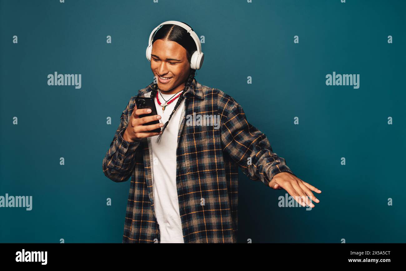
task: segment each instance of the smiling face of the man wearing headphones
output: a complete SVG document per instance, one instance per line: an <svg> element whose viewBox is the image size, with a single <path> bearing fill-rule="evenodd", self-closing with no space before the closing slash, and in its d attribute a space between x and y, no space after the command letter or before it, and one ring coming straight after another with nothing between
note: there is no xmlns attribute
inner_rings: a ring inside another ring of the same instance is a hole
<svg viewBox="0 0 406 271"><path fill-rule="evenodd" d="M190 74L186 49L175 41L157 39L152 46L151 71L162 93L175 94L183 90Z"/></svg>

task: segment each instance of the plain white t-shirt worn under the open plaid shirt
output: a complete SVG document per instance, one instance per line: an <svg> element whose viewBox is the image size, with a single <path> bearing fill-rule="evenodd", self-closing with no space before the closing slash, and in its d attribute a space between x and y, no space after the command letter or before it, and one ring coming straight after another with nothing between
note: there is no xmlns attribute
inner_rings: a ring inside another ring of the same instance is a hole
<svg viewBox="0 0 406 271"><path fill-rule="evenodd" d="M158 90L159 91L159 90ZM183 93L183 92L181 92ZM178 93L179 94L179 93ZM177 95L160 94L159 101L164 103ZM162 96L161 96L162 95ZM156 100L155 108L161 116L160 123L166 123L171 115L179 97L172 103L166 105L162 111ZM176 147L177 135L179 132L179 121L184 110L185 100L176 109L175 113L165 128L159 144L156 143L158 135L151 137L152 146L152 168L153 168L153 198L155 215L159 224L161 243L184 243L181 219L179 215L179 203L176 189Z"/></svg>

